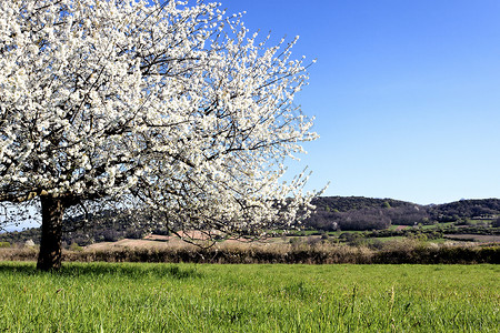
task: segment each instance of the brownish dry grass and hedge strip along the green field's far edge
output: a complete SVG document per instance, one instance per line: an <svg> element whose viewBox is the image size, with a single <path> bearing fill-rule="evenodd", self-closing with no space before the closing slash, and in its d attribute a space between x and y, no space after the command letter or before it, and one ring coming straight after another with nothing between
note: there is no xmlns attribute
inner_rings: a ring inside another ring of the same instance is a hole
<svg viewBox="0 0 500 333"><path fill-rule="evenodd" d="M33 261L37 248L0 249L2 261ZM500 263L499 245L452 245L403 239L382 248L351 246L329 241L294 243L222 242L203 249L182 242L122 240L63 251L63 261L80 262L194 262L194 263Z"/></svg>

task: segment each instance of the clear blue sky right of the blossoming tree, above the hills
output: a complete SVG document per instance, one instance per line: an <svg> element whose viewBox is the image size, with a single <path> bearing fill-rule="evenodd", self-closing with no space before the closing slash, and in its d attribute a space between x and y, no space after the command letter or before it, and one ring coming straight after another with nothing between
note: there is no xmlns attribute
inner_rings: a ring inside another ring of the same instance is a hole
<svg viewBox="0 0 500 333"><path fill-rule="evenodd" d="M326 195L500 198L500 1L226 0L250 31L318 59L297 103ZM299 169L292 168L291 171Z"/></svg>

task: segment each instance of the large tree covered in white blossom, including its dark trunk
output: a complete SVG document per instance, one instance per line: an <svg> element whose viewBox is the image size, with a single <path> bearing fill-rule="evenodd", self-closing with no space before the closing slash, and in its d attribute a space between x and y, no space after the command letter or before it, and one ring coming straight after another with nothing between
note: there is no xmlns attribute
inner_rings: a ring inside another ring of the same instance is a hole
<svg viewBox="0 0 500 333"><path fill-rule="evenodd" d="M256 41L217 3L0 2L0 201L39 202L38 268L63 216L113 202L173 231L249 234L308 206L284 160L316 139L293 107L294 43Z"/></svg>

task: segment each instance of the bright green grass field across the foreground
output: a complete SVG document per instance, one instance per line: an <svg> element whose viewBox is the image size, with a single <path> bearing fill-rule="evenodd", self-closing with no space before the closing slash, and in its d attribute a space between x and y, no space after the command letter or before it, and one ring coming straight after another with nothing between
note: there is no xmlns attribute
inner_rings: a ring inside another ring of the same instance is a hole
<svg viewBox="0 0 500 333"><path fill-rule="evenodd" d="M499 332L498 265L0 262L0 332Z"/></svg>

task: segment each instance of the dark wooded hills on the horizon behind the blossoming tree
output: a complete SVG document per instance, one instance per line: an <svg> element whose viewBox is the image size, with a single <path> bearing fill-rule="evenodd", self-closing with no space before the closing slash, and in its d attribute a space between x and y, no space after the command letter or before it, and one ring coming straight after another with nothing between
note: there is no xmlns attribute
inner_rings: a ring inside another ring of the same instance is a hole
<svg viewBox="0 0 500 333"><path fill-rule="evenodd" d="M301 228L334 230L386 230L390 225L433 224L437 222L460 222L468 219L500 218L500 199L460 200L444 204L420 205L394 199L374 199L364 196L319 196L312 202L317 210L303 221ZM132 224L129 215L106 211L92 218L83 229L78 226L82 216L67 220L63 242L88 245L93 242L117 241L119 239L140 239L146 235L142 226ZM143 224L153 214L134 213ZM498 222L496 222L498 224ZM167 234L164 228L152 230L156 234ZM0 242L22 243L27 240L40 242L38 228L6 232Z"/></svg>

